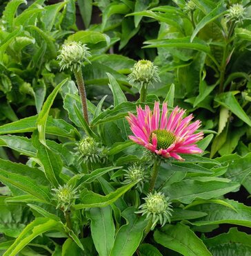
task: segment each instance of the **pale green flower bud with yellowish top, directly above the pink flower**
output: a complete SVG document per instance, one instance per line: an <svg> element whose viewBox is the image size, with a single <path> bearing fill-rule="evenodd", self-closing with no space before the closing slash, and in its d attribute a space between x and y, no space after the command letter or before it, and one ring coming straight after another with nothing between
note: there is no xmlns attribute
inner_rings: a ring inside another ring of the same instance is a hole
<svg viewBox="0 0 251 256"><path fill-rule="evenodd" d="M153 81L160 81L159 70L150 60L139 60L134 64L128 79L136 86L143 86L145 83L152 84Z"/></svg>

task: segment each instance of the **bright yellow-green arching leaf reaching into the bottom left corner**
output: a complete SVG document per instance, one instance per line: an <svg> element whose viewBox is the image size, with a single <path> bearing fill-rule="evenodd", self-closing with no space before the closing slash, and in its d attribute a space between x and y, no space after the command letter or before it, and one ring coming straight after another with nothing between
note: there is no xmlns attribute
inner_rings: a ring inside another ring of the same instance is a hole
<svg viewBox="0 0 251 256"><path fill-rule="evenodd" d="M44 232L59 229L62 229L59 221L54 221L53 219L49 218L37 218L23 229L23 232L21 232L16 241L14 241L14 244L12 244L12 246L6 250L6 253L4 253L3 256L15 256L35 237L43 234Z"/></svg>

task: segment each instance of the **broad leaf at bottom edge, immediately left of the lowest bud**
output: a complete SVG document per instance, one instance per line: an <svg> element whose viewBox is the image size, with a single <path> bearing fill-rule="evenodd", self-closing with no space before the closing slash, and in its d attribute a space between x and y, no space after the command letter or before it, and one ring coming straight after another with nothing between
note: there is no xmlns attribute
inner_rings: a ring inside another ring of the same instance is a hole
<svg viewBox="0 0 251 256"><path fill-rule="evenodd" d="M135 214L136 210L130 207L122 212L126 224L119 228L110 256L130 256L137 250L148 222L145 217Z"/></svg>

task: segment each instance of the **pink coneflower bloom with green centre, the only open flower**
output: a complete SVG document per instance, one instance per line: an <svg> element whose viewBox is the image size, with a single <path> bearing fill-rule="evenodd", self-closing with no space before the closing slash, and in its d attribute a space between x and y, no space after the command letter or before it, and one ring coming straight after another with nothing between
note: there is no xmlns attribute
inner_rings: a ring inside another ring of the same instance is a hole
<svg viewBox="0 0 251 256"><path fill-rule="evenodd" d="M163 103L161 114L159 102L155 102L153 112L150 111L149 106L145 106L145 110L139 106L137 116L129 113L127 117L134 133L134 136L129 138L155 154L184 161L179 154L201 153L202 150L194 143L203 138L203 132L194 134L200 127L201 121L190 122L193 116L183 118L184 113L185 110L175 107L168 116L166 103Z"/></svg>

